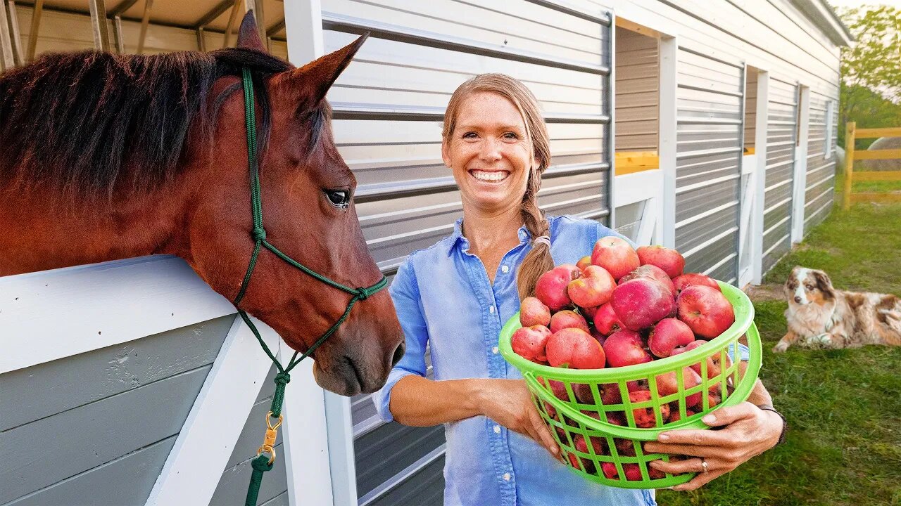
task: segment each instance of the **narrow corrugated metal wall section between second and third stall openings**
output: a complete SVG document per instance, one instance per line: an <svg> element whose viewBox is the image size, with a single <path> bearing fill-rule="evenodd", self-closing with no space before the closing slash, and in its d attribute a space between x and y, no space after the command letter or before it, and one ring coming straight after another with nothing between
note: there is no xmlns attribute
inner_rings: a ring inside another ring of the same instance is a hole
<svg viewBox="0 0 901 506"><path fill-rule="evenodd" d="M763 204L763 272L791 248L798 86L769 78L766 198Z"/></svg>

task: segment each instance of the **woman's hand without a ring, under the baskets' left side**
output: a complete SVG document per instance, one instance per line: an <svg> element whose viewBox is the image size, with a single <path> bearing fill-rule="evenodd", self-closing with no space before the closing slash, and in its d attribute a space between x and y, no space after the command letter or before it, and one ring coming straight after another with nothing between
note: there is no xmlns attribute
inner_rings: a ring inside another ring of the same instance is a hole
<svg viewBox="0 0 901 506"><path fill-rule="evenodd" d="M534 439L548 448L551 455L560 458L560 447L532 404L532 394L525 381L484 379L478 382L478 411L507 429Z"/></svg>

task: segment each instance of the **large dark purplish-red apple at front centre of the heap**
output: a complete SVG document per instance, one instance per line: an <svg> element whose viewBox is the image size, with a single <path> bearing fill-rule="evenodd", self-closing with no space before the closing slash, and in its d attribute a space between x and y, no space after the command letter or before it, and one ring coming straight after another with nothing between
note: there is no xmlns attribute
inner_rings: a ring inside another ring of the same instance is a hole
<svg viewBox="0 0 901 506"><path fill-rule="evenodd" d="M666 286L643 277L617 286L610 298L616 316L629 330L651 327L669 316L675 304Z"/></svg>

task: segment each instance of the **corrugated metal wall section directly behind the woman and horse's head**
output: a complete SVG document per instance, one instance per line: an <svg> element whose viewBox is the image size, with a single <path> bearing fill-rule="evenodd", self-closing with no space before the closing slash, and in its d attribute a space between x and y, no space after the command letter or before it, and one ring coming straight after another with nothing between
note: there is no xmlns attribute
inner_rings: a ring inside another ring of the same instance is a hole
<svg viewBox="0 0 901 506"><path fill-rule="evenodd" d="M542 104L554 154L542 208L607 221L607 14L542 0L503 10L451 0L415 9L403 0L323 0L322 16L326 51L372 33L329 100L335 141L359 182L369 250L388 276L410 252L449 235L462 213L441 162L441 118L453 90L476 74L517 77ZM359 503L432 504L418 491L443 490L443 427L383 425L368 396L353 400L352 417Z"/></svg>

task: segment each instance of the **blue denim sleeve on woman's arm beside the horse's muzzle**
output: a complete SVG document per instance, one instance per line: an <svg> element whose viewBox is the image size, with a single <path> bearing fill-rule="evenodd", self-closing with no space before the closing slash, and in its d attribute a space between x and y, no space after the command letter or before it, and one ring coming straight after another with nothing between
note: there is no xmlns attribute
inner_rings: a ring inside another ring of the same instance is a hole
<svg viewBox="0 0 901 506"><path fill-rule="evenodd" d="M388 375L387 383L378 392L372 394L372 401L376 405L378 416L385 421L394 420L389 406L391 404L391 390L404 376L420 375L425 377L425 347L429 340L428 329L423 318L422 305L420 304L419 288L416 284L416 275L407 258L397 270L397 275L388 293L395 304L397 320L400 321L401 330L404 331L406 350L404 357L397 362Z"/></svg>

